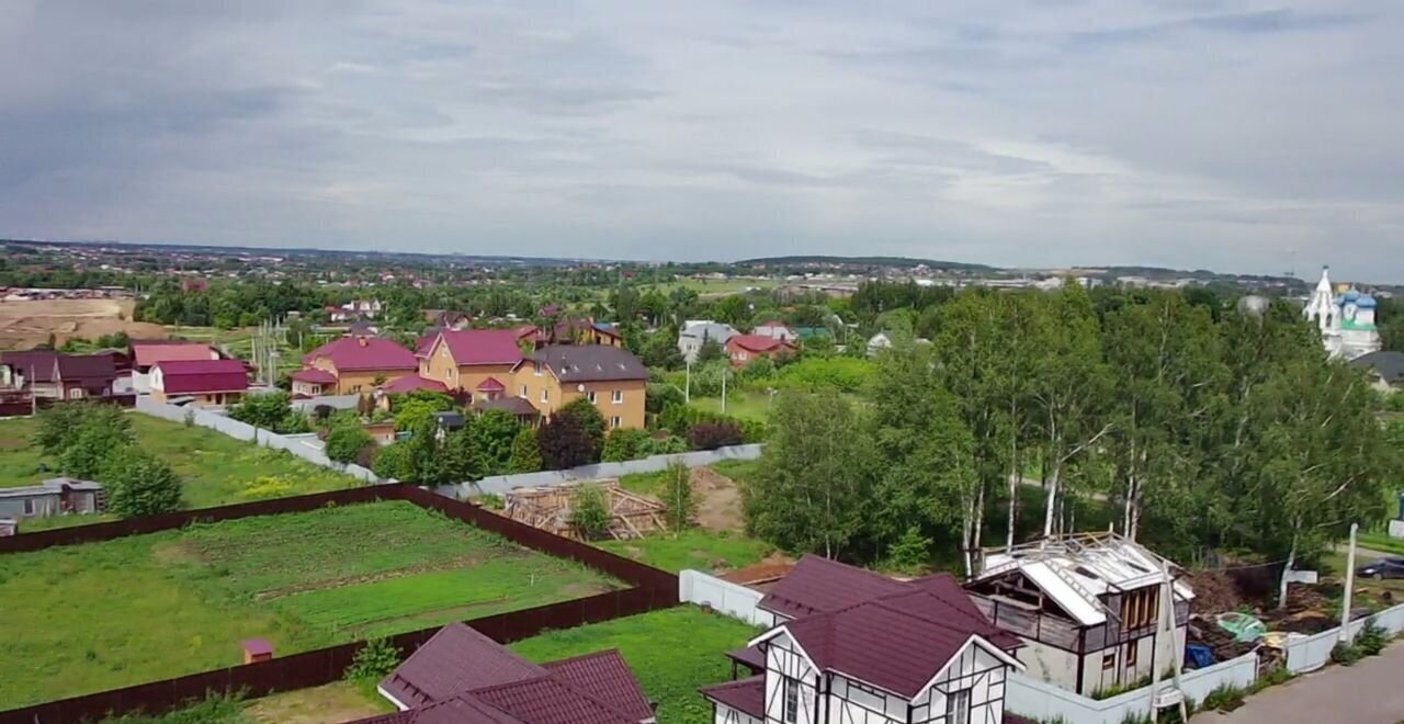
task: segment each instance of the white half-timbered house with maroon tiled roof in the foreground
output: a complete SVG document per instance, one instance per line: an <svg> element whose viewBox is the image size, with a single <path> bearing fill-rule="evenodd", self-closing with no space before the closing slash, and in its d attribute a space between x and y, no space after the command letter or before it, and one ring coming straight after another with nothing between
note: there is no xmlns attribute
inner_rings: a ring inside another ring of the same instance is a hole
<svg viewBox="0 0 1404 724"><path fill-rule="evenodd" d="M1018 640L949 575L896 581L806 556L758 603L775 626L703 688L717 724L1001 724Z"/></svg>

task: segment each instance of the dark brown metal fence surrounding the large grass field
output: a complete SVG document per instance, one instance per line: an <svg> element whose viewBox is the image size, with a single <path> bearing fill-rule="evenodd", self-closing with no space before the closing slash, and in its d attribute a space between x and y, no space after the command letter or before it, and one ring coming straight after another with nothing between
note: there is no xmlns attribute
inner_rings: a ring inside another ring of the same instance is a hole
<svg viewBox="0 0 1404 724"><path fill-rule="evenodd" d="M498 643L505 644L536 636L546 630L608 622L622 616L671 608L678 603L678 582L673 574L577 540L553 536L545 530L510 521L476 505L444 498L413 485L373 485L299 495L295 498L226 505L222 508L183 511L112 523L24 533L0 539L0 553L31 551L53 546L111 540L157 530L171 530L191 522L232 521L253 515L312 511L327 504L354 505L382 500L404 500L423 508L439 511L456 521L498 533L521 546L583 563L633 585L633 588L623 591L609 591L588 598L563 601L560 603L498 613L466 622ZM390 641L403 655L409 655L437 631L438 627L409 631L392 637ZM257 697L275 692L322 686L341 679L343 672L351 664L359 647L359 643L341 644L258 664L206 671L190 676L0 711L0 724L97 721L108 714L170 711L192 700L204 699L209 692L243 692L244 696Z"/></svg>

